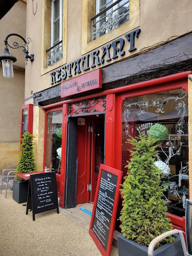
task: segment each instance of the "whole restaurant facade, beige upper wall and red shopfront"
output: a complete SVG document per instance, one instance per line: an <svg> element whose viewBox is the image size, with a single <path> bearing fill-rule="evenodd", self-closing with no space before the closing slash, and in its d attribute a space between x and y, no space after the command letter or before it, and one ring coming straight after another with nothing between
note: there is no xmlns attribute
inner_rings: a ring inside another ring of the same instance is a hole
<svg viewBox="0 0 192 256"><path fill-rule="evenodd" d="M168 216L185 230L192 175L190 1L77 2L78 9L45 0L36 13L27 2L34 61L26 66L21 135L33 131L37 168L56 172L59 205L71 208L94 202L100 163L127 174L129 136L162 124L169 133L158 145L171 172L163 181L171 182L164 185ZM119 196L117 218L120 209Z"/></svg>

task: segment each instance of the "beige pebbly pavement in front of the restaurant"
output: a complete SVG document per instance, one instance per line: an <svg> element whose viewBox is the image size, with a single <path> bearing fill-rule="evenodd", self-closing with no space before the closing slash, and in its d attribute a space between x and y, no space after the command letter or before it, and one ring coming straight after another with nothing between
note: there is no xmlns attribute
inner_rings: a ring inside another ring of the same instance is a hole
<svg viewBox="0 0 192 256"><path fill-rule="evenodd" d="M26 215L26 206L0 194L0 256L100 256L88 230L56 210ZM118 256L112 246L111 256Z"/></svg>

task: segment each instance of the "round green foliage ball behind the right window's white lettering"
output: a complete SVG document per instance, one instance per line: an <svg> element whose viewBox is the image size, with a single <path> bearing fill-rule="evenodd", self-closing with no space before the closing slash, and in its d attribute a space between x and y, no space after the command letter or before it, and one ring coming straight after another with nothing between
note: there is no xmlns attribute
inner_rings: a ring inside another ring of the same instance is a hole
<svg viewBox="0 0 192 256"><path fill-rule="evenodd" d="M158 143L163 142L169 137L168 128L163 124L154 124L149 129L149 137L150 139L157 139Z"/></svg>

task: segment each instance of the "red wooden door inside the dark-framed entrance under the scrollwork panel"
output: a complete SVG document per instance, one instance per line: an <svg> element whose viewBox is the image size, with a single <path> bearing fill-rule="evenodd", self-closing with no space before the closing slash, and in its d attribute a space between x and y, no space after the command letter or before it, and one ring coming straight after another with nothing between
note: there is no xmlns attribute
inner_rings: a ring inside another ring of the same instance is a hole
<svg viewBox="0 0 192 256"><path fill-rule="evenodd" d="M77 131L76 204L80 204L95 199L99 167L104 163L104 118L78 119Z"/></svg>

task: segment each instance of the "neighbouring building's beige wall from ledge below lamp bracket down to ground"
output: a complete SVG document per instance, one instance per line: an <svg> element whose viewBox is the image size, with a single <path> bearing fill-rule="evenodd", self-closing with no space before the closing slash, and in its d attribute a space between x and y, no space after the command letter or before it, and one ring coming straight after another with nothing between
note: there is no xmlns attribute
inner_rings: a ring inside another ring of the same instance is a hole
<svg viewBox="0 0 192 256"><path fill-rule="evenodd" d="M15 168L19 157L24 72L13 73L13 78L3 77L0 66L0 170Z"/></svg>

